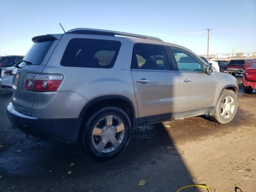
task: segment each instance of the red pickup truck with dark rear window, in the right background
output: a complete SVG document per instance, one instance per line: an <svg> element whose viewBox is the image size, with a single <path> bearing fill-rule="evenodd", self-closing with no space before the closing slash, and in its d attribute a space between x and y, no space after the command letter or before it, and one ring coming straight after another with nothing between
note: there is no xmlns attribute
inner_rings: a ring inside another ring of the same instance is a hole
<svg viewBox="0 0 256 192"><path fill-rule="evenodd" d="M244 70L254 65L253 59L232 59L228 63L228 73L231 75L244 74Z"/></svg>

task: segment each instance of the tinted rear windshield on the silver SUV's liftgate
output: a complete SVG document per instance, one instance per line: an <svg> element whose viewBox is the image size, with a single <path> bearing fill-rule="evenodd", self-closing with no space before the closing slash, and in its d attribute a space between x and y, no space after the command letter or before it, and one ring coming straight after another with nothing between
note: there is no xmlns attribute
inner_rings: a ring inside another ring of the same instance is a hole
<svg viewBox="0 0 256 192"><path fill-rule="evenodd" d="M40 65L53 42L48 40L34 43L23 60L32 62L33 65ZM26 63L22 62L21 64Z"/></svg>

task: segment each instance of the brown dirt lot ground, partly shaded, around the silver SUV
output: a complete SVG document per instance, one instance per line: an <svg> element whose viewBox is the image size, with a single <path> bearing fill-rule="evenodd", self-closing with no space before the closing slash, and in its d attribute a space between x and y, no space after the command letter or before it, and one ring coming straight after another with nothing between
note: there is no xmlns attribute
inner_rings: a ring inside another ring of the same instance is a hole
<svg viewBox="0 0 256 192"><path fill-rule="evenodd" d="M126 150L107 162L87 158L78 144L29 140L12 130L11 95L0 89L0 191L176 192L193 182L215 192L256 191L255 91L240 90L228 124L200 116L139 127ZM207 190L181 192L188 191Z"/></svg>

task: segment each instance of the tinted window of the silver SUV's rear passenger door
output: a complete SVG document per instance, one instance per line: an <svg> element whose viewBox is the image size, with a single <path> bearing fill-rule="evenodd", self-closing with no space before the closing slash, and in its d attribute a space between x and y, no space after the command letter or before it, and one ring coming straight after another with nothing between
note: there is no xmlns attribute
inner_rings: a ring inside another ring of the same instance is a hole
<svg viewBox="0 0 256 192"><path fill-rule="evenodd" d="M132 69L171 70L165 46L153 44L134 45Z"/></svg>

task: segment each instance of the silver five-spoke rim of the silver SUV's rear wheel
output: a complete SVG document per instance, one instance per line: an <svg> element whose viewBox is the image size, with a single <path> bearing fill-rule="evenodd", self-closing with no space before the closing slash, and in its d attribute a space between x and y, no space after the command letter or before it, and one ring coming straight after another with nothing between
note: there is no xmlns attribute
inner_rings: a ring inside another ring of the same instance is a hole
<svg viewBox="0 0 256 192"><path fill-rule="evenodd" d="M124 123L114 115L100 119L92 130L92 143L95 149L102 153L116 150L123 139Z"/></svg>

